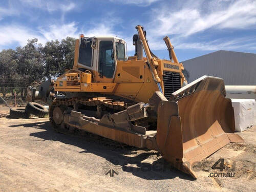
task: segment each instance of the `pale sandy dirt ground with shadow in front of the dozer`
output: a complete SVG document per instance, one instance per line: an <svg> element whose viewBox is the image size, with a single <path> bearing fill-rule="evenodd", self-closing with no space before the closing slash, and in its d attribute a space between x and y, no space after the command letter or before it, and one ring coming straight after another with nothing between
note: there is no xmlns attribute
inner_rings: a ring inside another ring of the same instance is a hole
<svg viewBox="0 0 256 192"><path fill-rule="evenodd" d="M198 165L198 179L168 165L159 153L91 135L55 133L48 118L0 118L0 192L4 191L254 191L256 127ZM210 177L224 158L223 173ZM113 168L113 169L111 169ZM110 177L108 170L118 174Z"/></svg>

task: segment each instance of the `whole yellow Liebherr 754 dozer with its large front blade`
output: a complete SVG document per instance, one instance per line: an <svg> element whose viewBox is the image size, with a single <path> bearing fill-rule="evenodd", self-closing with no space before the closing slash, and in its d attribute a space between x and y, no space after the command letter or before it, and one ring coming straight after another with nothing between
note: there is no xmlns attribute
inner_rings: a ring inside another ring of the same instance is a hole
<svg viewBox="0 0 256 192"><path fill-rule="evenodd" d="M187 84L168 37L170 60L150 50L142 26L133 36L135 55L117 37L76 40L71 70L28 88L28 99L50 105L55 130L83 130L136 147L156 150L173 166L196 178L191 165L230 142L234 113L223 79L210 76ZM146 57L143 57L145 54Z"/></svg>

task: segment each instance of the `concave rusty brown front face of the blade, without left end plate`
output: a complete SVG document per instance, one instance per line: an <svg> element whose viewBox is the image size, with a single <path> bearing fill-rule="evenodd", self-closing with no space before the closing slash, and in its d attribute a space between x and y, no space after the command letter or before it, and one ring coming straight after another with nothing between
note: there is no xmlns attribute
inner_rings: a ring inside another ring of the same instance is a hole
<svg viewBox="0 0 256 192"><path fill-rule="evenodd" d="M178 101L184 160L200 161L229 143L234 132L231 101L219 91L200 91Z"/></svg>

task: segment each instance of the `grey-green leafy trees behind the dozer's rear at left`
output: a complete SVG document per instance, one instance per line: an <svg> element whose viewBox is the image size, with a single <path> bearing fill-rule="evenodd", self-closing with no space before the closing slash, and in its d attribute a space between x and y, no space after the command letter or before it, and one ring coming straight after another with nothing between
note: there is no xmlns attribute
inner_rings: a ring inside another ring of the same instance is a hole
<svg viewBox="0 0 256 192"><path fill-rule="evenodd" d="M43 47L29 39L24 47L0 52L0 93L13 91L25 100L27 87L49 77L58 77L74 63L75 39L48 41Z"/></svg>

